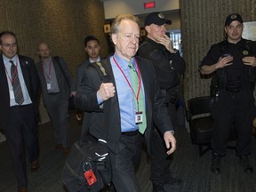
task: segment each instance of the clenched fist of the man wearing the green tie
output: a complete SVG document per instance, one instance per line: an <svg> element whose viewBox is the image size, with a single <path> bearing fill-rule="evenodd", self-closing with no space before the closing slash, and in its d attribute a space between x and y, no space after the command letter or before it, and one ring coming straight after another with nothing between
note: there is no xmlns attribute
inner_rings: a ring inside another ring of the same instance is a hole
<svg viewBox="0 0 256 192"><path fill-rule="evenodd" d="M101 100L108 100L111 97L114 97L116 92L115 86L112 83L102 83L100 84L100 89L97 92L97 95Z"/></svg>

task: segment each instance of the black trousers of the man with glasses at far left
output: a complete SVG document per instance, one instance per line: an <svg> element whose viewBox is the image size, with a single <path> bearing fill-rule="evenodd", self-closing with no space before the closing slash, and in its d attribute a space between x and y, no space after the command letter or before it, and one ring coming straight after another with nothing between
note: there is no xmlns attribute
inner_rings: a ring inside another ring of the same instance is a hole
<svg viewBox="0 0 256 192"><path fill-rule="evenodd" d="M12 107L8 128L4 130L18 187L28 187L26 149L29 163L39 156L38 116L35 111L32 104Z"/></svg>

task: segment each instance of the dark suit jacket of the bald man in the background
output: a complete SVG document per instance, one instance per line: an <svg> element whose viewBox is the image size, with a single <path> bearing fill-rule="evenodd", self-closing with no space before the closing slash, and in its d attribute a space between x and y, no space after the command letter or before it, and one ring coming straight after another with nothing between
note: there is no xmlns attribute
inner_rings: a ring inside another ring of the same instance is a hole
<svg viewBox="0 0 256 192"><path fill-rule="evenodd" d="M55 75L60 88L60 97L63 100L68 100L70 92L76 91L72 73L68 69L67 63L60 57L52 57L52 65L55 70ZM44 78L43 63L41 60L36 63L36 69L41 82L44 105L47 105L49 94L47 91L47 84Z"/></svg>

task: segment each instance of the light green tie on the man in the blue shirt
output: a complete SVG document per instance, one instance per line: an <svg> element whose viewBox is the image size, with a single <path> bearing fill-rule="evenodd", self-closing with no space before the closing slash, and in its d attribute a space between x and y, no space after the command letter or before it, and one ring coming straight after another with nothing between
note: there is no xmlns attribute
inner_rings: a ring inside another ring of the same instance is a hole
<svg viewBox="0 0 256 192"><path fill-rule="evenodd" d="M132 80L132 89L134 93L136 110L138 109L138 104L139 104L139 110L142 111L142 124L139 124L139 132L143 134L147 127L146 110L144 105L144 92L142 90L142 86L140 86L140 95L139 95L139 103L138 103L136 100L136 94L139 89L138 73L136 72L136 69L133 67L132 62L129 62L128 67L130 68L130 76Z"/></svg>

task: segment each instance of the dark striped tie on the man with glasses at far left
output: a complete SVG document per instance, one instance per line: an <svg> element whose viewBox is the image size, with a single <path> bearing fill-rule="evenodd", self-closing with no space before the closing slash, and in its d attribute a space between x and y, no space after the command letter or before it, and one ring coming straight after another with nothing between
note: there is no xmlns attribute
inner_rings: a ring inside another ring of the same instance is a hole
<svg viewBox="0 0 256 192"><path fill-rule="evenodd" d="M18 76L18 68L14 65L13 60L9 60L12 63L11 76L12 76L12 89L14 93L15 102L21 105L24 102L23 93L20 86L20 80Z"/></svg>

